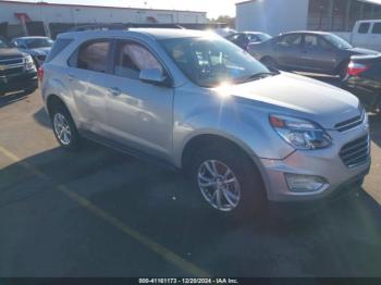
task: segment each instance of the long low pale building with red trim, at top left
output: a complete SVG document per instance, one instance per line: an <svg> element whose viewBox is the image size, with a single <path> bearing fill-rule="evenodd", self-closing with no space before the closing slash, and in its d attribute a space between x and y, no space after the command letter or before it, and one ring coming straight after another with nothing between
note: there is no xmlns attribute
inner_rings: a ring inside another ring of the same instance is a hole
<svg viewBox="0 0 381 285"><path fill-rule="evenodd" d="M8 34L29 34L28 26L44 27L50 33L52 24L206 24L207 13L198 11L157 10L82 4L53 4L0 0L0 25ZM39 23L39 24L37 24ZM34 33L32 33L34 34ZM40 34L40 30L39 30Z"/></svg>

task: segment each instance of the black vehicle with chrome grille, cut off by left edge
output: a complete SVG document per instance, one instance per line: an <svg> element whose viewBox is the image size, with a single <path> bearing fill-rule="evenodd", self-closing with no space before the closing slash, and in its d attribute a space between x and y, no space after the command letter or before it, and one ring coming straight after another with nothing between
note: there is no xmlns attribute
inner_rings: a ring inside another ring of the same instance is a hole
<svg viewBox="0 0 381 285"><path fill-rule="evenodd" d="M33 92L36 88L37 71L32 57L11 48L0 37L0 95L16 90Z"/></svg>

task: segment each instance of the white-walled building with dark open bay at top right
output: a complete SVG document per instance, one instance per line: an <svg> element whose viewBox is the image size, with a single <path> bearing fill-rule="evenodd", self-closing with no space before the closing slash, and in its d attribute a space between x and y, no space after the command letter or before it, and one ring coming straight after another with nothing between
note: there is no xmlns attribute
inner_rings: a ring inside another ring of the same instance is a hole
<svg viewBox="0 0 381 285"><path fill-rule="evenodd" d="M381 4L367 0L250 0L236 4L236 29L270 35L290 30L352 30L356 21L381 18Z"/></svg>

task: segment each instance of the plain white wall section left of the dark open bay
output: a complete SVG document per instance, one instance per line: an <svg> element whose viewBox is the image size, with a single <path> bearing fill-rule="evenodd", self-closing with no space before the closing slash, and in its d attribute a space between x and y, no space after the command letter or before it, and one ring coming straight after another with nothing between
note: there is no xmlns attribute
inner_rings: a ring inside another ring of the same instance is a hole
<svg viewBox="0 0 381 285"><path fill-rule="evenodd" d="M236 5L235 27L272 36L307 28L308 0L254 0Z"/></svg>

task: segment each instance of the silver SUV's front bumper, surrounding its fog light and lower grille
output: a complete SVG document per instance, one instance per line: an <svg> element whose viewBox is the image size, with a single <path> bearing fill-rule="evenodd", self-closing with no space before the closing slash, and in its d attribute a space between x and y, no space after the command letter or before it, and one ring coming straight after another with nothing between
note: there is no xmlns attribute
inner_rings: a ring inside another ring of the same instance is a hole
<svg viewBox="0 0 381 285"><path fill-rule="evenodd" d="M340 189L359 187L369 173L370 154L360 165L348 168L340 158L341 149L348 142L368 135L368 126L360 125L345 133L330 132L334 144L321 150L297 150L284 160L261 159L262 177L270 201L305 201L330 196ZM327 184L317 190L295 191L288 186L286 174L322 178Z"/></svg>

